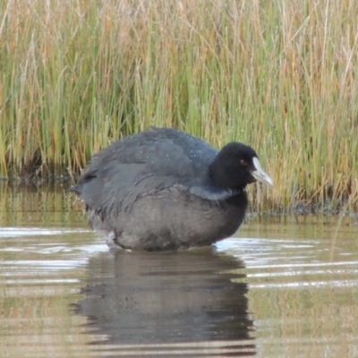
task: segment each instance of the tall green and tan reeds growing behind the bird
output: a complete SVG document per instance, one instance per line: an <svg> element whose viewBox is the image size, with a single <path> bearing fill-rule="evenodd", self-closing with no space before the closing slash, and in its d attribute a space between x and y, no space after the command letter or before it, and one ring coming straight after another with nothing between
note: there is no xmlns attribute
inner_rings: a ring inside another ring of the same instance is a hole
<svg viewBox="0 0 358 358"><path fill-rule="evenodd" d="M261 212L357 212L355 0L8 0L0 177L72 180L154 126L256 149Z"/></svg>

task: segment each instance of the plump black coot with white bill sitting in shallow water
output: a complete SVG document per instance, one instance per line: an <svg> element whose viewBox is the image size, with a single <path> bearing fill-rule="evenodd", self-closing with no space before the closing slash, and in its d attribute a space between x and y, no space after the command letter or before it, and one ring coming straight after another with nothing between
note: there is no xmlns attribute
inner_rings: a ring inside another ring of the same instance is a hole
<svg viewBox="0 0 358 358"><path fill-rule="evenodd" d="M273 184L251 147L231 142L217 152L185 132L153 128L100 150L70 190L109 247L176 250L234 234L245 187L256 180Z"/></svg>

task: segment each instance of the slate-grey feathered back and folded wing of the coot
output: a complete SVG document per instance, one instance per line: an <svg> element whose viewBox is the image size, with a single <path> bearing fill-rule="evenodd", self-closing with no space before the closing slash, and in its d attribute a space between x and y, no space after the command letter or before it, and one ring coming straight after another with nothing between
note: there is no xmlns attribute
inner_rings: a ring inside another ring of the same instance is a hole
<svg viewBox="0 0 358 358"><path fill-rule="evenodd" d="M100 150L72 192L104 214L131 205L139 194L172 185L200 192L209 186L208 168L216 155L216 149L190 134L154 128Z"/></svg>

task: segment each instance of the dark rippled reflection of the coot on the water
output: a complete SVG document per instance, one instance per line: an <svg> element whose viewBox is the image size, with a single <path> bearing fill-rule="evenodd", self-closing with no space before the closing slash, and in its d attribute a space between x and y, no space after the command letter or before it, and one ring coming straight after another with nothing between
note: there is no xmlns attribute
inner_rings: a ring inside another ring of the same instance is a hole
<svg viewBox="0 0 358 358"><path fill-rule="evenodd" d="M215 248L102 252L89 261L85 297L74 311L107 344L251 339L241 268Z"/></svg>

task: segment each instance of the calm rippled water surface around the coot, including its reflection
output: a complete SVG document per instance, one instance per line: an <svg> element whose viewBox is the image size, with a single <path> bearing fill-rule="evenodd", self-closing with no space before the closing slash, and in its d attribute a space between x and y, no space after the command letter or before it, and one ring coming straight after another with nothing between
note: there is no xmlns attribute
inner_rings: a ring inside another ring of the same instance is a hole
<svg viewBox="0 0 358 358"><path fill-rule="evenodd" d="M0 194L1 357L358 356L357 218L113 254L64 188Z"/></svg>

